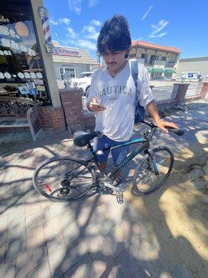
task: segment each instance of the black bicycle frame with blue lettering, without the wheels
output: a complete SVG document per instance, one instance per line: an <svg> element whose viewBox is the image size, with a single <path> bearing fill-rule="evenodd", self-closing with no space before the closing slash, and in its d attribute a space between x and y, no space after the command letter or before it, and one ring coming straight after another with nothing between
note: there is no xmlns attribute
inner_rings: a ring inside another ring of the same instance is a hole
<svg viewBox="0 0 208 278"><path fill-rule="evenodd" d="M141 145L139 147L137 147L137 149L135 149L132 152L130 152L130 154L128 154L128 156L123 161L121 161L121 163L119 163L119 165L117 165L114 168L114 170L112 170L112 172L110 172L109 174L105 175L105 173L102 170L100 170L102 177L109 177L109 178L111 178L112 176L114 176L114 174L116 174L116 172L119 172L123 167L125 167L125 165L130 163L130 161L132 161L132 159L135 158L135 156L137 156L139 153L141 153L144 149L148 149L150 147L150 142L149 142L148 138L147 139L146 138L144 138L144 139L137 138L137 139L133 139L133 140L129 140L127 142L124 142L121 145L117 145L117 146L114 146L114 147L108 147L108 148L105 148L105 149L101 149L102 152L105 152L107 150L118 149L119 147L133 145L133 144L137 144L137 143L139 143ZM90 153L93 156L91 159L89 159L89 161L86 161L86 163L89 163L87 165L87 167L89 167L89 165L92 165L92 163L96 163L96 165L99 168L99 166L101 164L98 162L96 151L94 151L94 149L93 149L93 147L92 147L92 145L90 143L87 145L87 148L90 150Z"/></svg>

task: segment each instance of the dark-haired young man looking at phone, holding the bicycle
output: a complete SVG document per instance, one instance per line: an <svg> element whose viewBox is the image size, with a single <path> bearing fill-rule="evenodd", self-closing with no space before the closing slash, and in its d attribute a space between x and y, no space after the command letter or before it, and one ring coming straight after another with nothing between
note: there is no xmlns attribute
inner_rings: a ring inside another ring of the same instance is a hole
<svg viewBox="0 0 208 278"><path fill-rule="evenodd" d="M87 107L96 117L96 131L103 136L94 139L94 149L104 149L130 140L135 121L135 82L128 63L131 38L128 22L122 15L114 15L107 20L98 36L98 54L103 56L105 68L94 72ZM148 73L143 65L139 65L138 74L139 104L148 110L155 124L168 132L166 126L178 128L173 122L163 122L158 115L153 94L148 83ZM112 158L121 162L128 152L128 147L112 150ZM109 152L98 155L101 170L105 172ZM117 175L117 179L119 179ZM121 181L117 181L121 183Z"/></svg>

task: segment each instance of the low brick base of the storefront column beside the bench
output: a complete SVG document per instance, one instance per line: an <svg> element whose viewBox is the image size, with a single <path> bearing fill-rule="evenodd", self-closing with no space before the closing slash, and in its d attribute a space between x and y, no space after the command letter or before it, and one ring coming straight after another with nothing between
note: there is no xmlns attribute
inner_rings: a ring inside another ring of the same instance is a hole
<svg viewBox="0 0 208 278"><path fill-rule="evenodd" d="M62 107L54 108L52 106L40 106L38 112L43 129L66 129Z"/></svg>

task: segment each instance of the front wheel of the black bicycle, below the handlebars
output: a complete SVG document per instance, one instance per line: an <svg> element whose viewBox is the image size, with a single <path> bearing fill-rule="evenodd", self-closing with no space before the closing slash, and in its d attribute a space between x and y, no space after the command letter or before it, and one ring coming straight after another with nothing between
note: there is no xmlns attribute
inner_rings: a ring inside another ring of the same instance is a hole
<svg viewBox="0 0 208 278"><path fill-rule="evenodd" d="M153 193L171 174L174 163L172 152L167 147L157 147L153 149L153 153L153 159L146 154L135 169L132 186L136 193Z"/></svg>

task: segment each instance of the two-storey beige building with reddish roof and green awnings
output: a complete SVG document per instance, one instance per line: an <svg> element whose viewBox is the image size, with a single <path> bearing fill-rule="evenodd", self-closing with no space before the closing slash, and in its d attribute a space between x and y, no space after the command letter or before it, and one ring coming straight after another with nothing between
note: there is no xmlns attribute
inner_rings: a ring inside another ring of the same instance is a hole
<svg viewBox="0 0 208 278"><path fill-rule="evenodd" d="M175 79L180 49L144 41L132 42L130 60L145 65L149 79ZM163 78L164 76L164 78Z"/></svg>

